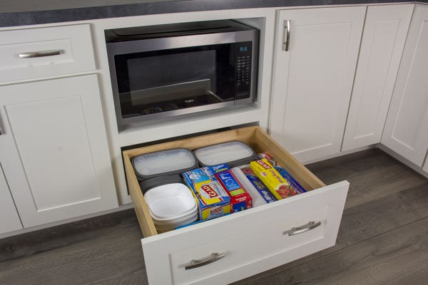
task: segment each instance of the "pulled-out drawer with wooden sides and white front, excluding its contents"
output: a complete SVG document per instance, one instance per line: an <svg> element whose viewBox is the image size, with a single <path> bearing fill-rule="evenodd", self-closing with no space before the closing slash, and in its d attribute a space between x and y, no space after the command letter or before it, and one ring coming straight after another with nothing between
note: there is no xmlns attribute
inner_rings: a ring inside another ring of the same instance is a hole
<svg viewBox="0 0 428 285"><path fill-rule="evenodd" d="M163 234L156 232L131 158L173 147L240 140L269 152L308 192ZM257 126L123 152L129 192L144 238L150 284L228 284L336 242L349 183L325 185Z"/></svg>

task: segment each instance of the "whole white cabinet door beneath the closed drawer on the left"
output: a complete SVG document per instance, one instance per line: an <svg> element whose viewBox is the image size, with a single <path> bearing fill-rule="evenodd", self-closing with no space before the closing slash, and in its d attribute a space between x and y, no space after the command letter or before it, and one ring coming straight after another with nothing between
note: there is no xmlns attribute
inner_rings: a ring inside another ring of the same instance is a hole
<svg viewBox="0 0 428 285"><path fill-rule="evenodd" d="M9 138L0 154L24 227L118 206L96 75L0 93Z"/></svg>

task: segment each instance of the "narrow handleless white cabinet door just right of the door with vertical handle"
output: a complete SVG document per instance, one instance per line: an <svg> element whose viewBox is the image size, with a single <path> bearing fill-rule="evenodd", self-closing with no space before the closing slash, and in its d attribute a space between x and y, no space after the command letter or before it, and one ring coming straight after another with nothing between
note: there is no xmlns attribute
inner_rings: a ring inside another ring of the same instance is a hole
<svg viewBox="0 0 428 285"><path fill-rule="evenodd" d="M380 142L413 8L367 8L342 150Z"/></svg>

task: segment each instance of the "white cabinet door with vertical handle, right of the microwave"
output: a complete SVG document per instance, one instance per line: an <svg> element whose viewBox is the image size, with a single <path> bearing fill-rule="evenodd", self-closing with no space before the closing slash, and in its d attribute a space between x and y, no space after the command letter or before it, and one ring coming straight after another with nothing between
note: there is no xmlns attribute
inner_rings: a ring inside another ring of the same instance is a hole
<svg viewBox="0 0 428 285"><path fill-rule="evenodd" d="M340 152L365 11L358 6L279 13L270 134L300 161Z"/></svg>

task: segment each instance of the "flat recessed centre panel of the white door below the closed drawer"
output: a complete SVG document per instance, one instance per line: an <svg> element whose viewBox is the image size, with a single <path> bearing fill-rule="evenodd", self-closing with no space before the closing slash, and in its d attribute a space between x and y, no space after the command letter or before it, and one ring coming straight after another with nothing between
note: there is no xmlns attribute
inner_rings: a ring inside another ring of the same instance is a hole
<svg viewBox="0 0 428 285"><path fill-rule="evenodd" d="M6 113L37 211L101 199L78 95L6 105Z"/></svg>

